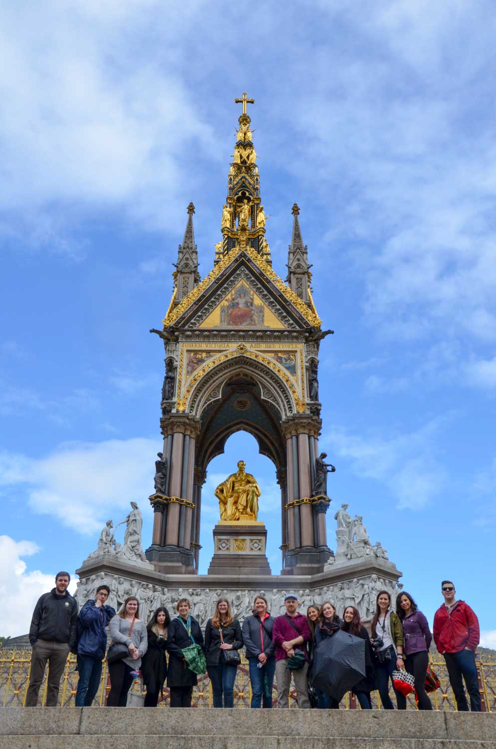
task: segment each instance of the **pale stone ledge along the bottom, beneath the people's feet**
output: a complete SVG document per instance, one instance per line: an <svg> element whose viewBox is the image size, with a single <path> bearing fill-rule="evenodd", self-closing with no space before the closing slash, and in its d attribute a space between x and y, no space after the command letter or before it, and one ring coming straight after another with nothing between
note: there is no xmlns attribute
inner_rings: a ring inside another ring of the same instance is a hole
<svg viewBox="0 0 496 749"><path fill-rule="evenodd" d="M0 709L0 749L496 749L496 713Z"/></svg>

